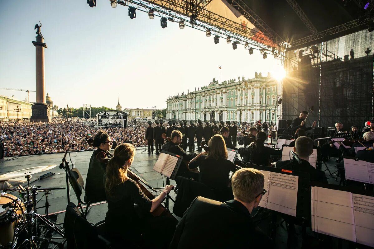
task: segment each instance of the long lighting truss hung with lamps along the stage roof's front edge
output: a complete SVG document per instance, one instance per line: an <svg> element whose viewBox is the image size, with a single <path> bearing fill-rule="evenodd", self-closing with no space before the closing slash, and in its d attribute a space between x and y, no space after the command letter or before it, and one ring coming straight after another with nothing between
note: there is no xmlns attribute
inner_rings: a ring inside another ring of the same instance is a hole
<svg viewBox="0 0 374 249"><path fill-rule="evenodd" d="M229 19L226 19L222 16L219 16L215 13L209 12L208 10L201 8L200 6L198 9L198 15L192 14L190 10L185 10L186 6L179 5L178 3L172 2L172 0L163 0L165 1L165 6L160 6L158 1L156 0L117 0L117 4L122 6L128 6L128 7L134 7L134 9L138 11L142 11L145 13L148 13L148 17L150 19L154 19L155 16L159 16L161 18L160 25L162 28L167 27L167 20L174 21L177 20L177 22L181 23L183 21L184 27L188 26L194 29L201 30L205 32L207 37L210 37L212 33L215 35L214 37L214 43L219 43L220 37L227 37L226 42L231 43L231 40L235 40L236 46L238 44L244 45L245 49L249 50L249 54L252 55L254 52L254 49L256 50L266 50L270 51L270 46L267 46L261 42L258 41L264 41L264 38L262 35L258 34L258 32L252 32L252 29L246 28L245 30L242 29L242 24L233 22ZM175 12L171 9L166 9L170 4L171 6L178 5L175 7L178 7L180 10L179 12ZM201 18L201 15L204 15L205 19L209 21L209 23L202 22L198 18ZM186 18L193 19L193 24L190 22L186 22ZM222 29L220 27L214 26L210 23L217 23L217 25L225 24L226 29ZM180 26L181 28L181 26ZM249 35L250 34L250 35ZM254 35L255 34L255 35ZM257 35L258 34L258 35ZM253 37L254 39L258 40L252 40L248 37ZM289 44L287 43L279 43L278 44L281 50L285 50L289 47ZM282 57L282 60L285 56L285 53L280 53L279 49L276 49L278 51L278 56Z"/></svg>

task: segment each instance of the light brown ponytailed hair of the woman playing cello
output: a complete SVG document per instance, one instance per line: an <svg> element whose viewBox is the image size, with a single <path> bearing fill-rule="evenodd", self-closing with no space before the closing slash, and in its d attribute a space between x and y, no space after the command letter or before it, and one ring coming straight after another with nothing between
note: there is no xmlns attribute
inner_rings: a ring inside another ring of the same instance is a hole
<svg viewBox="0 0 374 249"><path fill-rule="evenodd" d="M116 147L114 156L107 165L107 175L105 180L105 191L114 197L116 186L126 181L126 161L135 155L135 147L129 143L123 143Z"/></svg>

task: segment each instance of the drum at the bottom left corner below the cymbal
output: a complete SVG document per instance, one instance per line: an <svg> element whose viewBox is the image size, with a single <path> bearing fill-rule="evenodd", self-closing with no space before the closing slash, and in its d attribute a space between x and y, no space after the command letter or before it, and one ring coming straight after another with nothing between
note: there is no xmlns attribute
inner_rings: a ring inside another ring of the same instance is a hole
<svg viewBox="0 0 374 249"><path fill-rule="evenodd" d="M17 223L24 218L25 205L21 200L15 208L2 208L4 204L16 199L17 197L12 194L0 194L0 247L6 246L9 242L14 244L14 230Z"/></svg>

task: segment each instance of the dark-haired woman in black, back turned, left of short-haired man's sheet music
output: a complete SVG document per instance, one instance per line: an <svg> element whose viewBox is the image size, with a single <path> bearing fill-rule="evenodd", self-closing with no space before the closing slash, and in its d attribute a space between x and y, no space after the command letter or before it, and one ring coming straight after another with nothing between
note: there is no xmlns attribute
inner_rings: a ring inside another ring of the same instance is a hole
<svg viewBox="0 0 374 249"><path fill-rule="evenodd" d="M263 131L259 131L256 135L256 142L251 148L250 159L253 164L271 166L270 155L282 155L282 150L275 150L264 146L264 141L267 139Z"/></svg>

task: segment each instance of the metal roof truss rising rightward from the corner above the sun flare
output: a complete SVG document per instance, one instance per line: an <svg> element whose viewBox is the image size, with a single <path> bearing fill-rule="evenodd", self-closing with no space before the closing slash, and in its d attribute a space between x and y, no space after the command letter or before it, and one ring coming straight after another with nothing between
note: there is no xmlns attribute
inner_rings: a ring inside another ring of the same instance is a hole
<svg viewBox="0 0 374 249"><path fill-rule="evenodd" d="M337 33L343 32L343 31L347 31L347 30L353 29L353 28L359 28L359 27L365 27L366 28L369 21L370 20L368 18L366 18L362 21L360 21L359 19L356 19L356 20L347 22L345 24L341 24L339 26L326 29L325 31L321 31L321 32L319 32L315 35L309 35L309 36L301 38L299 40L292 41L291 42L292 47L288 48L286 51L295 49L296 47L300 47L303 44L311 43L313 41L325 38L328 35L334 35L334 34L337 34Z"/></svg>

